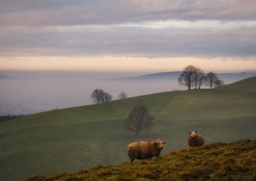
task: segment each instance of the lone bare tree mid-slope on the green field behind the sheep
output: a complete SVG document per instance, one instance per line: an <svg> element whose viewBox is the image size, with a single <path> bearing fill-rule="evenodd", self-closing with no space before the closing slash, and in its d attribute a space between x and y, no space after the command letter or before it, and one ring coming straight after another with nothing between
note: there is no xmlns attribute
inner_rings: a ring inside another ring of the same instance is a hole
<svg viewBox="0 0 256 181"><path fill-rule="evenodd" d="M125 119L124 127L139 135L141 129L150 129L153 120L154 117L148 113L147 107L133 107L129 116Z"/></svg>

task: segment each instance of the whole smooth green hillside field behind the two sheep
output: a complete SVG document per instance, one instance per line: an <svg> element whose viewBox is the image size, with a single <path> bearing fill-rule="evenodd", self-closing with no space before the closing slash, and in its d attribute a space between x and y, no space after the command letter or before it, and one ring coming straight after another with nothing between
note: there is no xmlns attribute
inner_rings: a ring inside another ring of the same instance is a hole
<svg viewBox="0 0 256 181"><path fill-rule="evenodd" d="M156 117L152 130L139 136L123 129L137 105ZM206 143L256 139L256 77L214 90L132 97L0 123L0 180L127 162L131 141L163 139L163 154L188 148L188 132L194 129Z"/></svg>

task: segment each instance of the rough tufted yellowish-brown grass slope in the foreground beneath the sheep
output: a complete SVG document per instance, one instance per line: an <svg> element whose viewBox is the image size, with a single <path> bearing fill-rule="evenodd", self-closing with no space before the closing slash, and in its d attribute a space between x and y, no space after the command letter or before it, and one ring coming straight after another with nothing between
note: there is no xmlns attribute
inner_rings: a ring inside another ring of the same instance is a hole
<svg viewBox="0 0 256 181"><path fill-rule="evenodd" d="M27 181L40 180L256 180L256 140L212 143L133 164L34 176Z"/></svg>

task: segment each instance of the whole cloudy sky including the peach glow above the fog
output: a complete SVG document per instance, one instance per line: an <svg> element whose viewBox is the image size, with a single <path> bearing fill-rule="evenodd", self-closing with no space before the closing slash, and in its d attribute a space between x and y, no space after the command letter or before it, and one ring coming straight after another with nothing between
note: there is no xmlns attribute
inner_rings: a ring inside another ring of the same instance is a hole
<svg viewBox="0 0 256 181"><path fill-rule="evenodd" d="M255 9L255 0L1 0L0 70L256 70Z"/></svg>

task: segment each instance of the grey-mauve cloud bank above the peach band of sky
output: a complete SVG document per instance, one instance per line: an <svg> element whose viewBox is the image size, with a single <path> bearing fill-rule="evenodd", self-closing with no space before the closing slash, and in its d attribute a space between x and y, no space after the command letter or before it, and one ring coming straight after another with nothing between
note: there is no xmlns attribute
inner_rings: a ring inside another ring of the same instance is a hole
<svg viewBox="0 0 256 181"><path fill-rule="evenodd" d="M0 56L254 57L252 0L3 0Z"/></svg>

